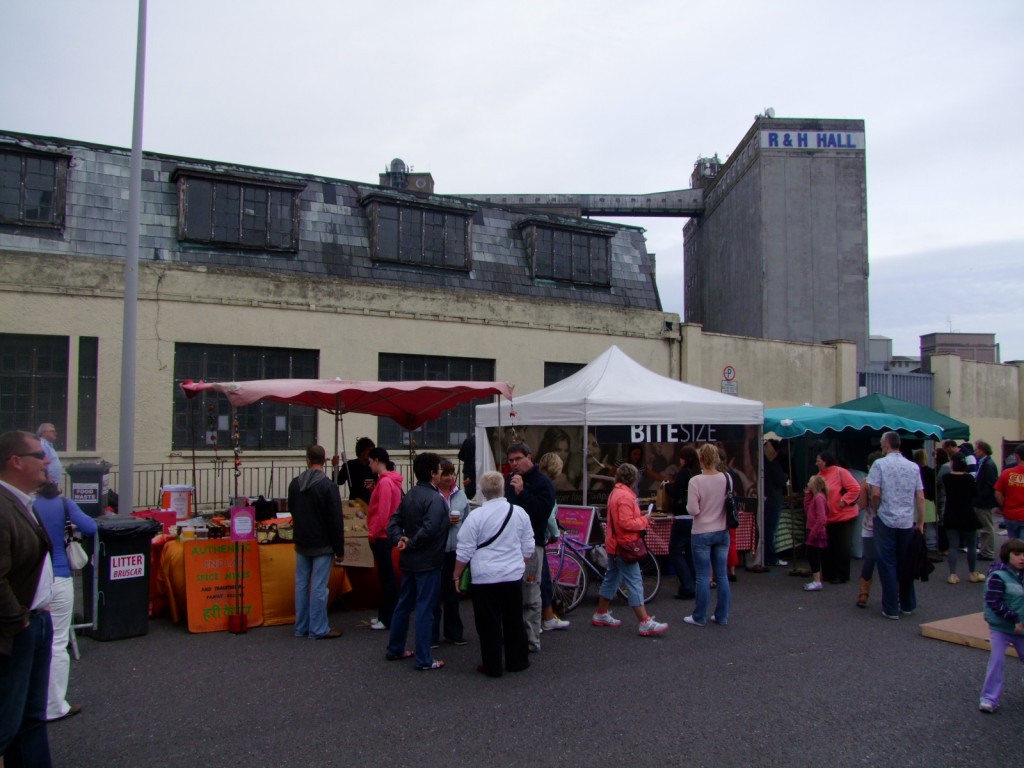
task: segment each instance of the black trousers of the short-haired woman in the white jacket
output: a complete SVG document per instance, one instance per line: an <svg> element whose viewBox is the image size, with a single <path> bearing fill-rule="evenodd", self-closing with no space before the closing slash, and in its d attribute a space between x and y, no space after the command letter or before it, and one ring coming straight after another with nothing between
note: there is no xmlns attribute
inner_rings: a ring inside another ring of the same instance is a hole
<svg viewBox="0 0 1024 768"><path fill-rule="evenodd" d="M483 673L501 677L503 670L521 672L529 667L526 628L522 623L522 582L474 583L470 595Z"/></svg>

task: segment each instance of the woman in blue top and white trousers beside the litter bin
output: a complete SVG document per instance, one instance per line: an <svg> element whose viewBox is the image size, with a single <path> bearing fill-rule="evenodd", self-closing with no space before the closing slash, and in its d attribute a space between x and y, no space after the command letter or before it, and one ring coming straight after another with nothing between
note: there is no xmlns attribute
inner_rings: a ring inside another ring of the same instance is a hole
<svg viewBox="0 0 1024 768"><path fill-rule="evenodd" d="M32 505L43 521L46 532L53 542L53 586L50 600L50 618L53 622L53 647L50 652L50 687L46 696L46 719L62 720L82 711L81 705L68 703L68 676L71 656L68 643L71 638L72 616L75 612L75 580L72 578L68 554L65 551L65 531L73 526L77 534L91 537L96 532L96 522L75 502L60 496L56 483L48 482L39 492Z"/></svg>

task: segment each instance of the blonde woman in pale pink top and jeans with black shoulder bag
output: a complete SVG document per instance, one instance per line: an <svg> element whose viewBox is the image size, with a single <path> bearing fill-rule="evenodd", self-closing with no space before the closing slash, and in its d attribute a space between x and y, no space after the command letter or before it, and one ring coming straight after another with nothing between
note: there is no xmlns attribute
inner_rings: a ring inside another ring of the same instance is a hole
<svg viewBox="0 0 1024 768"><path fill-rule="evenodd" d="M683 621L694 627L708 624L708 607L711 603L712 563L716 573L726 572L729 556L729 530L725 524L725 495L728 480L718 470L718 449L706 442L697 450L700 460L700 474L690 478L686 498L686 511L693 515L693 530L690 535L693 549L693 567L696 570L697 601L693 613ZM718 580L718 598L711 621L725 626L729 623L732 607L732 591L728 579Z"/></svg>

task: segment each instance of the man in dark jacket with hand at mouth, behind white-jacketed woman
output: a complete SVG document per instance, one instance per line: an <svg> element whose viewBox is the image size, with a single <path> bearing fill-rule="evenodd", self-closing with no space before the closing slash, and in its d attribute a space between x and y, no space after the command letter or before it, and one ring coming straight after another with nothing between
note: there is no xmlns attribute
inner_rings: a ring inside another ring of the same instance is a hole
<svg viewBox="0 0 1024 768"><path fill-rule="evenodd" d="M541 649L541 579L544 574L548 518L555 508L555 486L534 464L532 452L525 442L513 442L506 456L512 467L512 476L505 486L505 498L526 510L534 528L534 557L526 563L522 582L522 621L526 626L529 649L536 653Z"/></svg>

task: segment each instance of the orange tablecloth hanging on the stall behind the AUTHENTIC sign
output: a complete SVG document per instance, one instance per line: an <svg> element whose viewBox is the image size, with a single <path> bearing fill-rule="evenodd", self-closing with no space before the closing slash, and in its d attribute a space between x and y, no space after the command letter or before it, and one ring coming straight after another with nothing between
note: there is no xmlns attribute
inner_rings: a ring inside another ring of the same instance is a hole
<svg viewBox="0 0 1024 768"><path fill-rule="evenodd" d="M183 546L177 540L161 543L160 567L154 568L159 581L157 593L166 596L171 621L180 622L187 611ZM259 551L260 586L263 597L263 626L295 624L295 547L291 544L267 544ZM156 560L155 560L156 562ZM372 568L362 568L373 574ZM366 577L360 574L359 581ZM331 568L328 604L352 590L346 568Z"/></svg>

